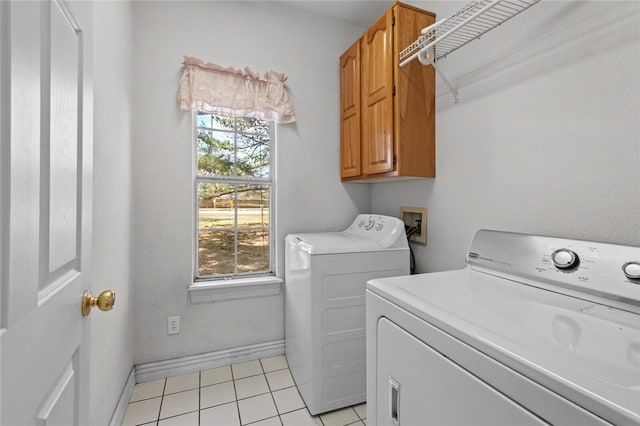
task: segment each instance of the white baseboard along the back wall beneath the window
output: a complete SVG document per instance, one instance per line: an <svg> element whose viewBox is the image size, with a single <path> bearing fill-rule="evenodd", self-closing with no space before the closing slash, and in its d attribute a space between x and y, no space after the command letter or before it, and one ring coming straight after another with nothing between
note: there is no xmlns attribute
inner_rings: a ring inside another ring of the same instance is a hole
<svg viewBox="0 0 640 426"><path fill-rule="evenodd" d="M147 362L135 366L135 383L149 382L180 374L194 373L209 368L223 367L239 362L282 355L284 339L243 346L234 349L208 352L165 361ZM127 382L128 383L128 382ZM132 390L133 392L133 390ZM129 399L131 395L129 395ZM127 399L127 402L129 401ZM126 409L126 406L125 406Z"/></svg>

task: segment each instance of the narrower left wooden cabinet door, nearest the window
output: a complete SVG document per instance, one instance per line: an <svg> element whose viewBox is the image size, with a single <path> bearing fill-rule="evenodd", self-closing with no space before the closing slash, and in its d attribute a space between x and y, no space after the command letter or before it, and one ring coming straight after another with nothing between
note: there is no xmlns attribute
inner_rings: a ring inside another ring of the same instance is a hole
<svg viewBox="0 0 640 426"><path fill-rule="evenodd" d="M360 176L360 40L340 57L340 176Z"/></svg>

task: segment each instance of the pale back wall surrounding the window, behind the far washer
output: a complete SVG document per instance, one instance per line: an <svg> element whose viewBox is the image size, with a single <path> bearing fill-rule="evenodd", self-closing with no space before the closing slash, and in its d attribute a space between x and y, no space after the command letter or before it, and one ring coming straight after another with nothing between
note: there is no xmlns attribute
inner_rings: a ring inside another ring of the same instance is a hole
<svg viewBox="0 0 640 426"><path fill-rule="evenodd" d="M278 272L284 236L344 229L367 185L339 180L338 58L362 29L271 2L134 4L136 363L284 338L282 296L190 305L192 119L178 109L184 55L288 75L295 125L277 129ZM167 316L181 333L167 336Z"/></svg>

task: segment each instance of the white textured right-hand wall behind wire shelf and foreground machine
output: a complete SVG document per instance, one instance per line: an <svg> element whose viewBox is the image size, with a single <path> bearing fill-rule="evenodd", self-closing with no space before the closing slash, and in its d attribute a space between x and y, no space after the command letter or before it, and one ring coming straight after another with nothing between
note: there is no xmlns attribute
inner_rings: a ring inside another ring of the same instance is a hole
<svg viewBox="0 0 640 426"><path fill-rule="evenodd" d="M419 271L463 267L480 228L640 245L640 3L542 1L440 64L437 177L371 193L428 208Z"/></svg>

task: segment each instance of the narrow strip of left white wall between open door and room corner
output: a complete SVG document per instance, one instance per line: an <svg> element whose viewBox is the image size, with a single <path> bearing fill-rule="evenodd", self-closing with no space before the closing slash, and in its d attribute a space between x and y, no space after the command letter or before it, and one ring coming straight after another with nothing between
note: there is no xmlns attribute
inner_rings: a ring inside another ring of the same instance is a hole
<svg viewBox="0 0 640 426"><path fill-rule="evenodd" d="M94 4L94 205L91 291L116 292L91 313L92 424L108 424L133 367L131 267L132 22L129 2Z"/></svg>

